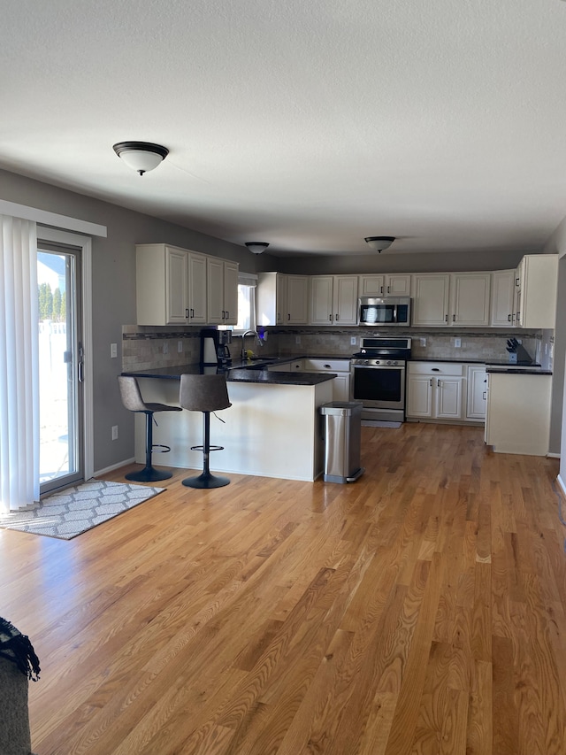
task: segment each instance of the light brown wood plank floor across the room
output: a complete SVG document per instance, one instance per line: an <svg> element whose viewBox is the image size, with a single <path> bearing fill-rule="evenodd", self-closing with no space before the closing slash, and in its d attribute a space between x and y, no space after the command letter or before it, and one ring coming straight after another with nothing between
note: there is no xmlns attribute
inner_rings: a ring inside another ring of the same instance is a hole
<svg viewBox="0 0 566 755"><path fill-rule="evenodd" d="M363 428L363 465L207 492L178 471L70 542L0 530L34 751L564 755L557 461L406 424Z"/></svg>

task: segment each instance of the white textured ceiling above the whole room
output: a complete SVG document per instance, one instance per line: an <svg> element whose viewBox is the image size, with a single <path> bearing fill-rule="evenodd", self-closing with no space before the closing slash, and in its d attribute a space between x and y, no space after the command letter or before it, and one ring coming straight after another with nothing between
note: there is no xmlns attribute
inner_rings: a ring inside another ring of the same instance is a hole
<svg viewBox="0 0 566 755"><path fill-rule="evenodd" d="M565 39L561 0L4 0L0 167L281 256L539 250Z"/></svg>

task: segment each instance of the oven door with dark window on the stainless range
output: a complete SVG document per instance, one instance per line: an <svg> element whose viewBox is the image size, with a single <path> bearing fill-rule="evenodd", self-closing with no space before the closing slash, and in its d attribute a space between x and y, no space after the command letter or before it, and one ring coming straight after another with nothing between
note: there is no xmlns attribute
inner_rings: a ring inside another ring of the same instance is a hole
<svg viewBox="0 0 566 755"><path fill-rule="evenodd" d="M352 365L351 394L370 409L405 408L405 367Z"/></svg>

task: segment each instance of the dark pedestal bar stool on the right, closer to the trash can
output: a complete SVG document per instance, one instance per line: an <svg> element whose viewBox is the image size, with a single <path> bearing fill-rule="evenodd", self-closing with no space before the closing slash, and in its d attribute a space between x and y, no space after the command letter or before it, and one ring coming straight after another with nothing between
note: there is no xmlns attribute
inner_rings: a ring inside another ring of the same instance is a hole
<svg viewBox="0 0 566 755"><path fill-rule="evenodd" d="M203 412L203 445L191 446L191 451L203 451L203 474L187 477L183 485L187 488L223 488L230 484L227 477L210 474L210 451L222 451L224 446L210 445L210 412L219 412L232 406L228 399L226 375L180 376L179 403L191 412ZM223 420L224 421L224 420Z"/></svg>

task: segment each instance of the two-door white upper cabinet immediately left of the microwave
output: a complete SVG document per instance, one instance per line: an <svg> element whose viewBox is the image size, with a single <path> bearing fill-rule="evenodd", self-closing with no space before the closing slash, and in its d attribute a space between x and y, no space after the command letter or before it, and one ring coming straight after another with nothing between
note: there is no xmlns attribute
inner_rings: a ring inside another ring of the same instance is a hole
<svg viewBox="0 0 566 755"><path fill-rule="evenodd" d="M357 325L357 275L313 275L310 325Z"/></svg>

